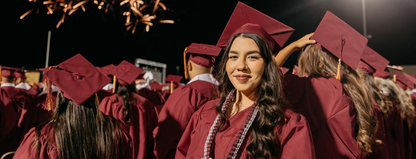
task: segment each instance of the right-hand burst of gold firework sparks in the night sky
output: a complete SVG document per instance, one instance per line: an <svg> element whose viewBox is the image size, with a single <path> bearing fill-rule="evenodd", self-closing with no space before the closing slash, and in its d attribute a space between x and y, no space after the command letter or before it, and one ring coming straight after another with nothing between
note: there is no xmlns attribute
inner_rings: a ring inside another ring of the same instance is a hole
<svg viewBox="0 0 416 159"><path fill-rule="evenodd" d="M136 32L139 22L146 25L146 32L149 32L154 23L174 23L173 20L156 20L157 13L167 10L160 0L149 0L146 3L143 0L122 0L120 6L128 9L123 15L126 16L126 30L131 29L131 34Z"/></svg>

